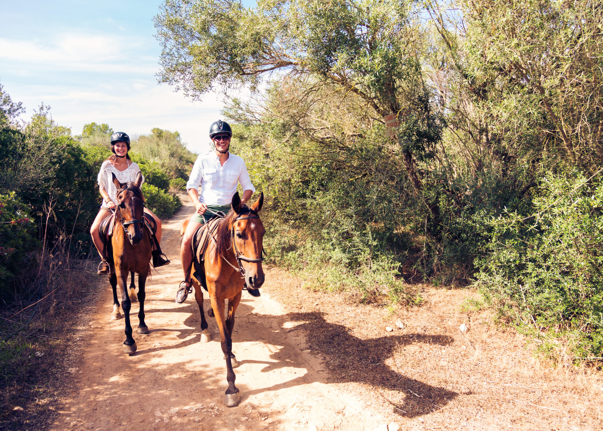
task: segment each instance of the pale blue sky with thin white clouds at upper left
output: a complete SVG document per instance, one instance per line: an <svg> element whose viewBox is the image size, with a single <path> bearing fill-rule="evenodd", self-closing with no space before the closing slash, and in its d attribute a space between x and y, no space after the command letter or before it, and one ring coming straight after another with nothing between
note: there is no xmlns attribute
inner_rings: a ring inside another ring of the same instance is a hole
<svg viewBox="0 0 603 431"><path fill-rule="evenodd" d="M194 152L207 148L223 96L193 103L157 84L161 48L152 19L160 4L2 0L0 84L24 103L21 118L43 102L74 135L92 121L130 135L160 127L178 130Z"/></svg>

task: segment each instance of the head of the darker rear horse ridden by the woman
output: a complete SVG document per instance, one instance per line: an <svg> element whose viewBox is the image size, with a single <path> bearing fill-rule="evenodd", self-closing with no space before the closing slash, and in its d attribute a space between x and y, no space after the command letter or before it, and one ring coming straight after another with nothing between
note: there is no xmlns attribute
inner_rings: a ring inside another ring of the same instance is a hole
<svg viewBox="0 0 603 431"><path fill-rule="evenodd" d="M124 232L130 240L130 244L136 246L142 241L142 214L144 212L144 198L140 191L142 184L142 174L136 176L134 182L121 183L113 175L113 184L117 187L117 207L116 217L124 226Z"/></svg>

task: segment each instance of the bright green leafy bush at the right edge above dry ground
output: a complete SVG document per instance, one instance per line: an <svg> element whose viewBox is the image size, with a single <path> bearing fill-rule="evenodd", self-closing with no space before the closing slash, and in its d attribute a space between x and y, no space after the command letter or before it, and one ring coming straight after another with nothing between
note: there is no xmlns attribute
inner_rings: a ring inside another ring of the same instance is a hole
<svg viewBox="0 0 603 431"><path fill-rule="evenodd" d="M501 318L576 357L603 356L603 185L548 176L529 215L490 221L478 286Z"/></svg>

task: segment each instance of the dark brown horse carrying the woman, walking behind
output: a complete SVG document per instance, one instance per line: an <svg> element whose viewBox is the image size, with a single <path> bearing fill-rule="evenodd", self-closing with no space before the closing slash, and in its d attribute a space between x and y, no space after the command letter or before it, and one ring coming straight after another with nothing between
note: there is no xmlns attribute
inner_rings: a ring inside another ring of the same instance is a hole
<svg viewBox="0 0 603 431"><path fill-rule="evenodd" d="M145 283L150 271L151 251L153 245L147 229L144 228L142 214L144 212L144 198L140 191L142 175L139 173L135 182L122 184L113 175L113 184L118 189L118 203L115 208L115 228L109 244L109 255L113 256L113 268L109 283L113 288L113 303L119 309L117 300L117 284L121 289L121 308L125 317L125 353L136 351L136 342L132 338L130 326L131 299L128 296L128 273L131 272L130 293L133 293L134 272L138 273L138 294L140 302L138 311L139 334L148 334L149 329L145 324Z"/></svg>

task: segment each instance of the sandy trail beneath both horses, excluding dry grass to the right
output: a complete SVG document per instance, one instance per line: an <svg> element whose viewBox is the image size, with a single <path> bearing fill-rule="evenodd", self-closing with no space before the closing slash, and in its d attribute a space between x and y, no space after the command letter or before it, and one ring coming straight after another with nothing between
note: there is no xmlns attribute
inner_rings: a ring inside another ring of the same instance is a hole
<svg viewBox="0 0 603 431"><path fill-rule="evenodd" d="M138 304L131 322L138 351L122 351L124 319L110 321L112 293L106 290L91 315L93 334L80 351L74 392L66 399L52 430L316 430L373 429L380 415L336 385L326 383L322 359L313 356L301 331L289 332L282 305L268 293L243 293L233 332L235 369L241 404L223 404L226 366L214 318L207 318L212 341L200 342L200 315L194 295L175 304L182 279L178 247L180 223L194 207L188 202L163 225L163 250L171 264L147 283L146 322L151 332L137 334ZM209 301L204 305L209 307ZM378 422L377 422L378 423Z"/></svg>

